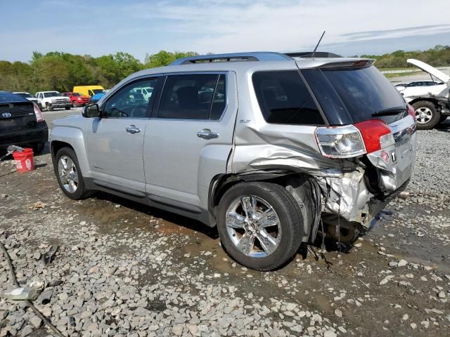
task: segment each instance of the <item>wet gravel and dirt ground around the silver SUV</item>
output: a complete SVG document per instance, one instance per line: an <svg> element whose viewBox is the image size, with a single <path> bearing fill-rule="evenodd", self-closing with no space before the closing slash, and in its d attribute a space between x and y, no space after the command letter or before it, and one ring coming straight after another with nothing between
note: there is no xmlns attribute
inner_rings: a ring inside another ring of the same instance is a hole
<svg viewBox="0 0 450 337"><path fill-rule="evenodd" d="M236 265L193 220L107 194L66 198L48 152L32 173L0 164L0 240L20 284L44 282L34 304L65 336L449 336L449 148L449 121L418 131L408 199L345 251L303 247L275 272ZM12 284L0 253L0 291ZM0 336L50 335L0 298Z"/></svg>

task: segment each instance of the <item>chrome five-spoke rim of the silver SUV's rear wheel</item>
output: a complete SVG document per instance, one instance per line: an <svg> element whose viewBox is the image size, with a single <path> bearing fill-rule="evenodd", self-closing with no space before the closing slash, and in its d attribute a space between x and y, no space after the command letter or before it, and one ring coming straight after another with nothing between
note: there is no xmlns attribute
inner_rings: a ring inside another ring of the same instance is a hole
<svg viewBox="0 0 450 337"><path fill-rule="evenodd" d="M233 245L251 258L266 258L281 242L281 224L274 208L262 198L244 195L226 211L226 232Z"/></svg>

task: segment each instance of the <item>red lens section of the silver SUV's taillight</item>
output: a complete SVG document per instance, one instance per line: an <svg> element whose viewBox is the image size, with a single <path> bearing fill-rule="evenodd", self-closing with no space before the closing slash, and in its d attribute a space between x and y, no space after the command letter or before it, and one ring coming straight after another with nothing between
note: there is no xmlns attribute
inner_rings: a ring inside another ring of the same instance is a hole
<svg viewBox="0 0 450 337"><path fill-rule="evenodd" d="M394 145L395 140L390 128L380 119L371 119L354 124L361 132L366 152L372 153L384 147Z"/></svg>

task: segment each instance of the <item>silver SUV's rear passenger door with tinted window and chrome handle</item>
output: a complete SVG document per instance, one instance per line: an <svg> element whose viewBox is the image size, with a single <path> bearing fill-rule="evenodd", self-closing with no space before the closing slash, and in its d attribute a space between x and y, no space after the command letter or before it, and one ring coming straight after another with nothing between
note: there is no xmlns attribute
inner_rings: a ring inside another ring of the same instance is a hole
<svg viewBox="0 0 450 337"><path fill-rule="evenodd" d="M233 72L167 75L144 140L150 199L207 209L210 181L226 173L233 146L235 83Z"/></svg>

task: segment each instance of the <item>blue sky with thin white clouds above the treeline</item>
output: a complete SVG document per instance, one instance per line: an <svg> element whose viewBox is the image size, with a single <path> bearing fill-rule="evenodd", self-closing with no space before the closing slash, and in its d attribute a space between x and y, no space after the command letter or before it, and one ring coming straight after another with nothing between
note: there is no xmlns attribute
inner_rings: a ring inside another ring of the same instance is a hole
<svg viewBox="0 0 450 337"><path fill-rule="evenodd" d="M0 0L0 60L32 51L307 51L342 55L450 45L448 0ZM424 14L425 13L425 14Z"/></svg>

